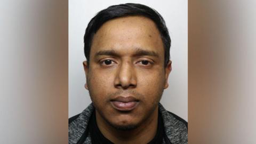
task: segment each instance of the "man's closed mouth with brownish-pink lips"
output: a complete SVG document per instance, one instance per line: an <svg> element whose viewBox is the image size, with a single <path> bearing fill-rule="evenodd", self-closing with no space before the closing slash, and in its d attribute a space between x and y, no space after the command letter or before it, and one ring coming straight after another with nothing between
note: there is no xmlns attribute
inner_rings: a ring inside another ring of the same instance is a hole
<svg viewBox="0 0 256 144"><path fill-rule="evenodd" d="M110 100L111 106L119 111L131 111L135 109L138 104L139 100L135 99L134 97L117 97L115 99Z"/></svg>

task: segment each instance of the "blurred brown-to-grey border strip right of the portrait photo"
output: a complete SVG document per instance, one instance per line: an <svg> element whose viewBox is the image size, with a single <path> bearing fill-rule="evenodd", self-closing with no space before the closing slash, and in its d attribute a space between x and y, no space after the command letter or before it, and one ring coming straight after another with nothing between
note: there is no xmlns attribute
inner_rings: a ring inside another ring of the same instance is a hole
<svg viewBox="0 0 256 144"><path fill-rule="evenodd" d="M256 1L188 1L189 143L256 143Z"/></svg>

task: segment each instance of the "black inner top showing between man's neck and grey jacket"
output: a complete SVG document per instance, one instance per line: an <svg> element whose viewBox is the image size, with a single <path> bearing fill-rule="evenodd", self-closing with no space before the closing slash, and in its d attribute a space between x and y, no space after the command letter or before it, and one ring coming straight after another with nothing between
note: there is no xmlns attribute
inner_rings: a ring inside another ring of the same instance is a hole
<svg viewBox="0 0 256 144"><path fill-rule="evenodd" d="M91 135L91 141L93 144L104 143L104 144L113 144L110 140L104 137L104 135L100 132L99 127L96 122L95 110L93 111L93 115L90 118L88 124L89 133ZM148 144L162 143L164 138L164 124L163 118L158 111L158 122L157 122L157 132L155 137L148 142Z"/></svg>

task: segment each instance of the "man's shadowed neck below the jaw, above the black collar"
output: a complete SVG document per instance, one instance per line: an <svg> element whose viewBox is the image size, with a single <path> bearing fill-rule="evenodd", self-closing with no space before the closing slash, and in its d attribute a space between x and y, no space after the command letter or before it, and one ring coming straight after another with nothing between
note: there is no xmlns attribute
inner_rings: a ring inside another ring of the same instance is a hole
<svg viewBox="0 0 256 144"><path fill-rule="evenodd" d="M101 133L114 143L148 143L157 132L158 106L137 128L129 131L117 130L109 125L96 110L96 121Z"/></svg>

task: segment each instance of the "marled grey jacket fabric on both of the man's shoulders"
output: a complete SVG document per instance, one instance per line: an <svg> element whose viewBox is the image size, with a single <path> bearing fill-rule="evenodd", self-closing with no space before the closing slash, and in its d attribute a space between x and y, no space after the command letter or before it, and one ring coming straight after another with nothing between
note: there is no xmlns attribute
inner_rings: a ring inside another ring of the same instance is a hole
<svg viewBox="0 0 256 144"><path fill-rule="evenodd" d="M90 116L93 112L93 105L89 105L68 127L68 143L73 144L82 137L86 130ZM172 114L168 113L167 110L159 103L159 110L162 114L164 121L164 131L168 139L173 144L185 144L188 143L188 130L184 123L176 119ZM163 140L164 141L164 140ZM84 143L91 143L90 133ZM163 142L165 143L165 142Z"/></svg>

